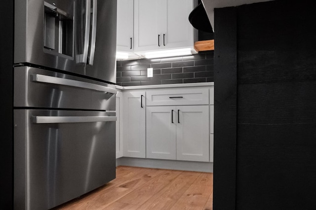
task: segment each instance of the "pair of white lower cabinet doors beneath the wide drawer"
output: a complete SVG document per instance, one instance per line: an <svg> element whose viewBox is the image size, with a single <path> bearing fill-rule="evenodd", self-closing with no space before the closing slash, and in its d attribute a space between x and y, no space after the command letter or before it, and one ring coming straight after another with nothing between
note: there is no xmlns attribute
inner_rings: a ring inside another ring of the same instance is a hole
<svg viewBox="0 0 316 210"><path fill-rule="evenodd" d="M209 161L209 106L147 106L147 158Z"/></svg>

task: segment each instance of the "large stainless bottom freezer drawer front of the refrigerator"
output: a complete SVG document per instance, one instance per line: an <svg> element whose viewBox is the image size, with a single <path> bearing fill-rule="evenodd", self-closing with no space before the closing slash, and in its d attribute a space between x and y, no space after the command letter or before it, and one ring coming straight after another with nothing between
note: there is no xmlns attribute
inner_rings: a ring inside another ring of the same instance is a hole
<svg viewBox="0 0 316 210"><path fill-rule="evenodd" d="M115 112L14 110L15 209L50 209L115 178L115 121L36 124L33 116Z"/></svg>

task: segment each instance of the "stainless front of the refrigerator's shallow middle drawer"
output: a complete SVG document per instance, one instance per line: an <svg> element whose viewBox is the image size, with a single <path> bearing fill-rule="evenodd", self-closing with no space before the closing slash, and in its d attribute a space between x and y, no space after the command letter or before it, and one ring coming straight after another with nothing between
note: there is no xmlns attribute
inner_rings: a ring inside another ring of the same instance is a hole
<svg viewBox="0 0 316 210"><path fill-rule="evenodd" d="M48 81L50 83L36 82L32 78L32 75L36 74L56 78ZM59 81L60 79L62 82ZM67 85L58 84L64 81L70 82ZM51 84L51 82L57 84ZM78 87L82 84L83 86ZM114 85L103 82L31 67L14 68L15 107L115 110L116 95L113 94L114 92L116 92Z"/></svg>

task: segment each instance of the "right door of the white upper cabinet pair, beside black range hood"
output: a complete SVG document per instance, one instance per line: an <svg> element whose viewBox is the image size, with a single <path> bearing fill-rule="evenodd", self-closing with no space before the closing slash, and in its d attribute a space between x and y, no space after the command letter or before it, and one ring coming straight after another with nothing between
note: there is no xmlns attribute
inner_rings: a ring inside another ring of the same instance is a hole
<svg viewBox="0 0 316 210"><path fill-rule="evenodd" d="M194 28L189 22L193 0L166 0L162 45L165 49L194 46Z"/></svg>

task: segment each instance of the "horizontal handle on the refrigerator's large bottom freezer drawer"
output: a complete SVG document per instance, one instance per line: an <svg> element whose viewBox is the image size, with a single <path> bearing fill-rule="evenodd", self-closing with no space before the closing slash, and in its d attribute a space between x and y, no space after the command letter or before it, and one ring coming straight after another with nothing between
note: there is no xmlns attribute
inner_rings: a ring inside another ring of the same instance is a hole
<svg viewBox="0 0 316 210"><path fill-rule="evenodd" d="M85 123L117 121L115 116L35 116L33 122L42 123Z"/></svg>

